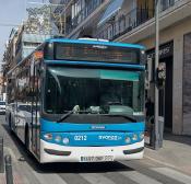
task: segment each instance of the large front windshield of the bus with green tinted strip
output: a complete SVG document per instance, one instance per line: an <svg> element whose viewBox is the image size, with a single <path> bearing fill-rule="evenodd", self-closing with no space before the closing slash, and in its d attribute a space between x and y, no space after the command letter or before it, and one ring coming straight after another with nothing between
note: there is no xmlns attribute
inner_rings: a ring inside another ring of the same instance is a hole
<svg viewBox="0 0 191 184"><path fill-rule="evenodd" d="M143 71L48 67L47 114L143 114Z"/></svg>

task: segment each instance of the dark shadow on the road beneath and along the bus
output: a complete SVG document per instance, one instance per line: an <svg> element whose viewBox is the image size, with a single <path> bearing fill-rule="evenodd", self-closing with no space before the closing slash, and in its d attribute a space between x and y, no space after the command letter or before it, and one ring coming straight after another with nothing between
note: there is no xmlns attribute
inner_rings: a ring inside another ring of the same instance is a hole
<svg viewBox="0 0 191 184"><path fill-rule="evenodd" d="M103 163L46 163L39 164L32 153L29 153L23 142L9 130L8 125L2 124L2 127L8 133L10 138L16 146L20 154L23 158L17 158L19 161L27 162L38 173L105 173L105 172L120 172L133 171L120 162L103 162Z"/></svg>

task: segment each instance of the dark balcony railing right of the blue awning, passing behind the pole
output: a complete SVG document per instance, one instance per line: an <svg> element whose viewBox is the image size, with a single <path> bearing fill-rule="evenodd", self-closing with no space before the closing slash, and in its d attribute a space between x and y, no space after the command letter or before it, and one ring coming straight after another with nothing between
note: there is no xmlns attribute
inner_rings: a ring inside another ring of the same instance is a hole
<svg viewBox="0 0 191 184"><path fill-rule="evenodd" d="M165 3L162 1L160 11L165 11L174 7L179 1L182 0L169 0L168 3L166 3L166 0L164 1ZM141 24L147 22L154 18L154 14L155 10L134 9L129 13L120 16L118 20L110 20L107 24L98 30L96 37L114 41L140 26Z"/></svg>

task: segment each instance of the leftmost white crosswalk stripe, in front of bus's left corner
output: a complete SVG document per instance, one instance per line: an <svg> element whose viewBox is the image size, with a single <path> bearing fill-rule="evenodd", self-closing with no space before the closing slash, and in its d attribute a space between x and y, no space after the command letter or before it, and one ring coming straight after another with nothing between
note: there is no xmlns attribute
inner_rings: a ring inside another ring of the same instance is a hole
<svg viewBox="0 0 191 184"><path fill-rule="evenodd" d="M60 177L58 174L43 174L33 171L34 175L37 177L40 184L67 184L67 182Z"/></svg>

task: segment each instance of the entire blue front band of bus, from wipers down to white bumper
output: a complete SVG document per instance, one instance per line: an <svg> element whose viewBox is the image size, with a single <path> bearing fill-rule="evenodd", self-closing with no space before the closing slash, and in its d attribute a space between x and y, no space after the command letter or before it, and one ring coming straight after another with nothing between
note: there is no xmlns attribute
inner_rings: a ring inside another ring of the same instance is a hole
<svg viewBox="0 0 191 184"><path fill-rule="evenodd" d="M56 123L40 119L40 138L50 143L73 147L91 147L91 146L126 146L140 142L140 135L144 131L144 123L127 123L127 124L74 124L74 123ZM95 128L98 129L95 129ZM100 129L99 129L100 128ZM52 139L47 140L45 135L51 133ZM136 134L138 139L133 140ZM57 137L61 137L60 141L56 141ZM131 141L126 142L126 138L130 137ZM68 138L70 142L64 145L63 138Z"/></svg>

